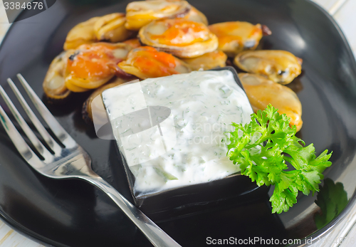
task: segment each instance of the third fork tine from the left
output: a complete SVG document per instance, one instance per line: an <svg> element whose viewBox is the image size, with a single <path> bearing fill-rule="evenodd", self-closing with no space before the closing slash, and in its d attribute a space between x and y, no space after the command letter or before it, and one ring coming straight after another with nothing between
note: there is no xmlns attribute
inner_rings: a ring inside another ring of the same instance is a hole
<svg viewBox="0 0 356 247"><path fill-rule="evenodd" d="M36 115L33 113L31 108L26 103L26 100L21 95L19 89L16 88L16 85L14 84L14 82L10 78L7 79L7 82L9 83L11 89L14 91L14 93L16 95L16 98L21 103L21 105L23 107L23 110L25 110L25 112L28 115L28 117L30 118L31 122L33 123L33 125L35 125L36 129L38 130L40 135L43 137L43 140L45 140L45 142L53 150L53 152L61 153L61 149L62 149L61 146L59 146L58 143L55 140L53 140L51 135L48 134L48 132L45 129L45 127L43 127L43 125L41 124L40 120L38 120Z"/></svg>

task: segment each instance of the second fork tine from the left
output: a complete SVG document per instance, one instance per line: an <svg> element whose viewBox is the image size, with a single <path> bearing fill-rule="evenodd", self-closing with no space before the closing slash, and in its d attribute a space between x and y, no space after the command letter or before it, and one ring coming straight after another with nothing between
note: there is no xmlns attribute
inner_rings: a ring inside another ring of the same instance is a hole
<svg viewBox="0 0 356 247"><path fill-rule="evenodd" d="M36 135L33 133L31 128L27 125L26 121L23 120L23 117L20 115L19 111L16 109L14 103L10 100L9 96L6 94L4 88L0 85L0 95L4 98L6 105L14 115L16 121L19 123L20 127L22 128L23 132L25 132L28 139L31 141L34 147L36 147L37 151L42 155L44 159L51 159L53 155L43 146L43 144L38 140Z"/></svg>

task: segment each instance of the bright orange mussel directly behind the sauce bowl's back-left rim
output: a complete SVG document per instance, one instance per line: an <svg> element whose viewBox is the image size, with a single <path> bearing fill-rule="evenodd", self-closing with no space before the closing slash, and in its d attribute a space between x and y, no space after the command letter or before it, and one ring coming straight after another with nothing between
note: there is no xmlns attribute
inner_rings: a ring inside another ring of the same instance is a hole
<svg viewBox="0 0 356 247"><path fill-rule="evenodd" d="M191 69L183 61L169 53L157 51L150 46L132 49L125 61L118 64L125 73L140 79L189 73Z"/></svg>

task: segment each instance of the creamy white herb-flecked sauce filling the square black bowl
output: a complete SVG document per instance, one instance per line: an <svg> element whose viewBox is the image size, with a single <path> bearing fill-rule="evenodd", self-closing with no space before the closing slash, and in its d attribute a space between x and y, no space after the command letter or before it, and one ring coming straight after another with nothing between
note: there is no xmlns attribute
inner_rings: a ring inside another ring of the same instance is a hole
<svg viewBox="0 0 356 247"><path fill-rule="evenodd" d="M105 90L103 102L135 176L136 196L239 172L221 140L233 130L231 122L248 123L253 111L231 71L195 71L120 85ZM159 127L153 108L145 110L157 105L171 110ZM147 118L127 115L136 110Z"/></svg>

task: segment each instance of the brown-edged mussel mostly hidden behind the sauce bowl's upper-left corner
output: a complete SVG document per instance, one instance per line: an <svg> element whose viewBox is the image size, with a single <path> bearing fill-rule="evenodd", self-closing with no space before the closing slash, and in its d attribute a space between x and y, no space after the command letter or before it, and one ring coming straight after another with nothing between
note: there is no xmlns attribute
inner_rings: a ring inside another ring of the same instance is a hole
<svg viewBox="0 0 356 247"><path fill-rule="evenodd" d="M98 88L97 90L95 90L87 100L85 100L85 103L83 103L83 108L82 108L82 116L83 116L83 120L85 120L85 122L93 122L93 114L92 114L92 103L93 100L100 95L101 93L103 93L104 90L107 90L108 88L114 88L117 85L120 85L122 83L127 83L127 80L124 80L122 78L113 78L112 80L110 80L110 82L108 84L105 84L103 86L101 86L100 88ZM103 112L104 115L106 115L106 112ZM105 117L105 116L103 116Z"/></svg>

